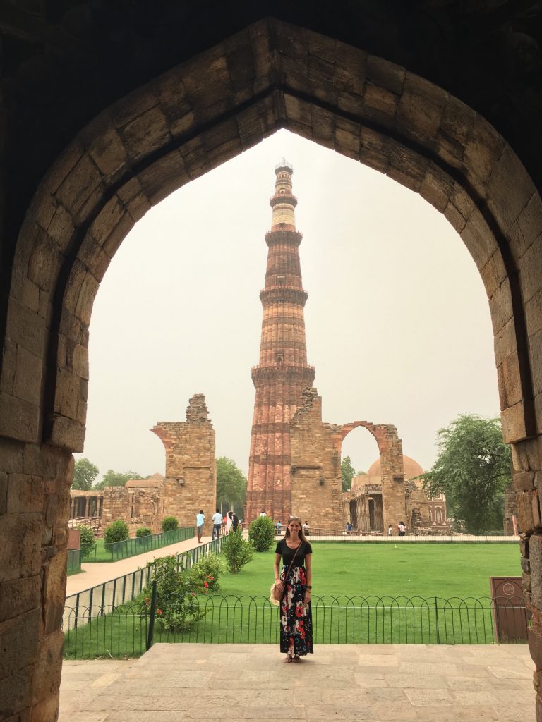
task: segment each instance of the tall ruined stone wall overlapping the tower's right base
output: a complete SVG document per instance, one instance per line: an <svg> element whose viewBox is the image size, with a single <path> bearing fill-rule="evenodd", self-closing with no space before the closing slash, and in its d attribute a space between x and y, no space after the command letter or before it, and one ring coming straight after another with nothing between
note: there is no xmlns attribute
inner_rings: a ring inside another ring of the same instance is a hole
<svg viewBox="0 0 542 722"><path fill-rule="evenodd" d="M340 529L340 427L322 423L322 399L316 388L303 392L290 438L292 513L313 528Z"/></svg>

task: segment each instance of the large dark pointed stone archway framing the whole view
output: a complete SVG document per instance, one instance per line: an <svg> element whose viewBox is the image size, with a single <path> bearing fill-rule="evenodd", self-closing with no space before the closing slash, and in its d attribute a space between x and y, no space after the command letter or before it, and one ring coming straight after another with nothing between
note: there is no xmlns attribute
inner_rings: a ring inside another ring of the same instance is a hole
<svg viewBox="0 0 542 722"><path fill-rule="evenodd" d="M85 434L100 280L150 206L283 127L421 193L460 234L489 297L522 530L542 531L542 204L533 181L505 139L446 90L314 32L258 22L104 109L53 163L20 228L0 375L13 715L52 719L57 706L68 489ZM533 550L541 539L532 537ZM541 559L524 562L539 667Z"/></svg>

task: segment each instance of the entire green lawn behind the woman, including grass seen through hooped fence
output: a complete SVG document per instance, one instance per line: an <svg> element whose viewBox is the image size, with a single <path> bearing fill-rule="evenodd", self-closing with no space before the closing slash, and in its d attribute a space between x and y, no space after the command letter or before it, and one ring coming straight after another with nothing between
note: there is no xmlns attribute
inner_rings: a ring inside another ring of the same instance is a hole
<svg viewBox="0 0 542 722"><path fill-rule="evenodd" d="M405 544L395 549L318 542L313 557L317 644L492 643L489 576L519 573L519 550L504 544ZM225 573L220 592L201 598L206 614L189 632L168 634L157 622L155 642L278 643L278 610L267 601L273 560L273 552L254 554L237 575ZM382 600L386 596L418 599L397 604ZM340 599L330 599L336 597ZM486 599L442 601L451 597ZM148 622L134 603L112 614L104 611L105 616L79 625L77 634L73 628L66 634L67 658L139 656L145 651Z"/></svg>

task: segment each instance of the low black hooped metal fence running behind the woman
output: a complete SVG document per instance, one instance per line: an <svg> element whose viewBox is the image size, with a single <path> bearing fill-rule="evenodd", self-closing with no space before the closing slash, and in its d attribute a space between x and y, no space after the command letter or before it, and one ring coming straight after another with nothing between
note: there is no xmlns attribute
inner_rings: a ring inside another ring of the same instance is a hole
<svg viewBox="0 0 542 722"><path fill-rule="evenodd" d="M184 604L183 604L184 602ZM279 610L263 597L189 596L66 609L64 656L139 656L154 643L277 644ZM504 598L315 597L315 644L525 643L524 606ZM509 633L496 639L494 616ZM87 620L85 622L85 620ZM84 623L85 622L85 623Z"/></svg>

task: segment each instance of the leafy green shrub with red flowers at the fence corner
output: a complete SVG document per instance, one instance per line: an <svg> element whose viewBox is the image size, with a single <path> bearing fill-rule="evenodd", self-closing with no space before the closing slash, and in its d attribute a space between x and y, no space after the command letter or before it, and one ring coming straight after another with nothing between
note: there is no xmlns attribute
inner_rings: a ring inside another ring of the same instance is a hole
<svg viewBox="0 0 542 722"><path fill-rule="evenodd" d="M198 594L206 594L207 588L184 571L183 563L176 557L161 557L148 562L153 567L150 582L142 591L139 612L148 614L152 597L152 582L156 582L156 622L168 632L185 632L205 612L199 609Z"/></svg>

